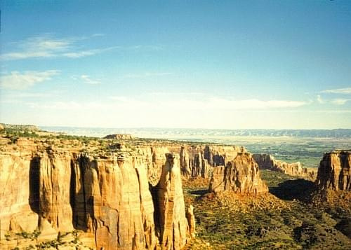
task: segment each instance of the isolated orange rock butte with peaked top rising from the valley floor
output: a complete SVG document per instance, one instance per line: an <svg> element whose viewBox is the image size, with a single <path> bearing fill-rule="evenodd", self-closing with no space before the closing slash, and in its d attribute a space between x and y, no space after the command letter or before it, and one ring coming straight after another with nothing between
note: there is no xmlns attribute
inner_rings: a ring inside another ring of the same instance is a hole
<svg viewBox="0 0 351 250"><path fill-rule="evenodd" d="M225 166L213 168L209 191L218 193L231 191L243 195L259 195L268 192L260 179L258 165L250 153L238 153Z"/></svg>

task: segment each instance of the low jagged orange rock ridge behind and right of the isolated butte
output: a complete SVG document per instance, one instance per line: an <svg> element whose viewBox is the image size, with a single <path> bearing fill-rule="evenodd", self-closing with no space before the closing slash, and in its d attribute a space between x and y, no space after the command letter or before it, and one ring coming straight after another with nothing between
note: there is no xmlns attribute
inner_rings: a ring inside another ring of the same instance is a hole
<svg viewBox="0 0 351 250"><path fill-rule="evenodd" d="M265 153L253 154L260 169L270 169L275 172L302 177L311 181L317 178L317 169L312 167L302 167L300 162L283 162L276 160L272 155Z"/></svg>

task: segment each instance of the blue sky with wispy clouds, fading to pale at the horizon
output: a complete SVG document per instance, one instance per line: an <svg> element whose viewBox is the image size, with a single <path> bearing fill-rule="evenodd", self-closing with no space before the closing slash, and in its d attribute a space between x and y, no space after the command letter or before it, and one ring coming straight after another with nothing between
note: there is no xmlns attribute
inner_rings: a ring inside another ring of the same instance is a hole
<svg viewBox="0 0 351 250"><path fill-rule="evenodd" d="M351 1L0 7L0 123L351 128Z"/></svg>

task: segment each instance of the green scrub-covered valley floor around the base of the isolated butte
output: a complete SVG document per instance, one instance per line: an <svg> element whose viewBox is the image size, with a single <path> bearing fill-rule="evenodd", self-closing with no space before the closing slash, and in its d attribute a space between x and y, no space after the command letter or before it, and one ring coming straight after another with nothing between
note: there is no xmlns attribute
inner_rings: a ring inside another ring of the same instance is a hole
<svg viewBox="0 0 351 250"><path fill-rule="evenodd" d="M185 201L194 206L197 237L214 249L351 249L350 209L305 203L310 181L270 170L261 176L270 195L232 201L206 195L205 181L186 181Z"/></svg>

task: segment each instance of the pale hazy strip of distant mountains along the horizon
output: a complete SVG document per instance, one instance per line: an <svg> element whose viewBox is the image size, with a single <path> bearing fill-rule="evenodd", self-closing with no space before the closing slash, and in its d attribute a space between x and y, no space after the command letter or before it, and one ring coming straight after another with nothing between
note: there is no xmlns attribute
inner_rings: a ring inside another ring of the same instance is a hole
<svg viewBox="0 0 351 250"><path fill-rule="evenodd" d="M106 134L127 133L136 137L318 137L351 138L351 129L335 130L211 130L179 128L102 128L102 127L40 127L42 130L67 134L104 137Z"/></svg>

